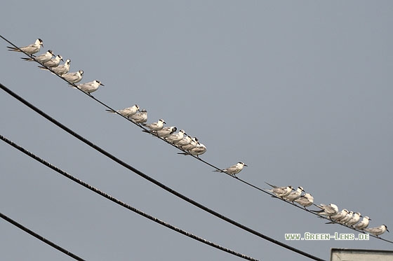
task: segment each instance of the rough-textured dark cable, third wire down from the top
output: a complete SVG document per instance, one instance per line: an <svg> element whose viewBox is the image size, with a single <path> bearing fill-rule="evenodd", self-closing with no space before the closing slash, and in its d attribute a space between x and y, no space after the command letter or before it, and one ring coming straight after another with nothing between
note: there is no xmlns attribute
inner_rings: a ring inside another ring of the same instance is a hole
<svg viewBox="0 0 393 261"><path fill-rule="evenodd" d="M230 253L232 255L236 255L239 258L244 258L246 260L252 260L252 261L258 261L255 258L251 258L248 257L247 255L243 255L241 253L238 253L236 251L232 251L229 248L225 248L223 246L220 246L218 244L215 244L211 241L208 241L206 239L203 239L201 237L198 237L192 233L189 233L185 230L181 230L178 227L175 227L169 223L164 222L163 220L160 220L159 218L155 218L154 216L150 216L149 214L140 211L138 209L135 209L133 206L126 204L124 202L121 202L119 199L116 199L115 197L112 197L111 195L108 195L107 193L98 190L98 188L93 187L92 185L89 185L88 183L81 181L79 178L75 178L74 176L72 176L71 174L68 174L66 171L63 171L62 169L59 169L58 167L55 167L53 164L47 162L46 160L41 159L40 157L38 157L37 155L34 155L34 153L29 152L28 150L26 150L25 148L22 148L21 146L19 146L18 144L14 143L13 141L7 139L6 137L2 136L0 134L0 139L6 143L8 143L9 145L13 146L14 148L20 150L22 153L25 153L26 155L28 155L29 157L32 157L34 160L40 162L41 164L44 164L46 167L49 167L50 169L53 169L54 171L58 172L59 174L61 174L62 176L65 176L66 178L69 178L70 180L78 183L79 185L82 185L84 188L87 188L88 190L91 190L95 193L97 193L98 195L105 197L106 199L109 199L111 202L114 202L120 206L123 206L124 208L131 210L137 214L139 214L140 216L143 216L145 218L148 218L149 220L154 221L155 223L158 223L160 225L163 225L164 227L168 227L171 230L174 230L175 232L178 232L180 234L184 234L187 237L190 237L192 239L195 239L196 241L202 242L208 246L213 246L213 248L218 248L220 251L225 251L227 253ZM61 248L62 249L62 248Z"/></svg>

